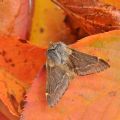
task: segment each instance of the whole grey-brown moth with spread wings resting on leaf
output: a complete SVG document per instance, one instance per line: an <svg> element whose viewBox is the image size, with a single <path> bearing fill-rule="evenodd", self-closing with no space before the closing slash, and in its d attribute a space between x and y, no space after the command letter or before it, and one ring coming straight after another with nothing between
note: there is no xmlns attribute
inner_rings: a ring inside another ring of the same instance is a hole
<svg viewBox="0 0 120 120"><path fill-rule="evenodd" d="M107 69L109 64L96 56L78 52L62 42L53 43L47 51L46 98L48 105L58 103L75 75L89 75Z"/></svg>

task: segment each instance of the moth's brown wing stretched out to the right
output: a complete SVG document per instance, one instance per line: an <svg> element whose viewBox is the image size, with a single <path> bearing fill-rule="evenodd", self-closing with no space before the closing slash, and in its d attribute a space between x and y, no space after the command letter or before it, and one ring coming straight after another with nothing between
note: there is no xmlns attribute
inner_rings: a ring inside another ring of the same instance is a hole
<svg viewBox="0 0 120 120"><path fill-rule="evenodd" d="M72 50L69 60L74 72L78 75L88 75L107 69L109 64L96 56Z"/></svg>

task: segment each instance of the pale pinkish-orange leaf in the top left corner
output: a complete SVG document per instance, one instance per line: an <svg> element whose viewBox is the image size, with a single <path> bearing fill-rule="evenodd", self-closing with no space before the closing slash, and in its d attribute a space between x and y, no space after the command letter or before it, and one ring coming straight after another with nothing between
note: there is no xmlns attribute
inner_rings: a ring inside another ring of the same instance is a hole
<svg viewBox="0 0 120 120"><path fill-rule="evenodd" d="M30 31L29 0L1 0L0 1L0 33L28 37Z"/></svg>

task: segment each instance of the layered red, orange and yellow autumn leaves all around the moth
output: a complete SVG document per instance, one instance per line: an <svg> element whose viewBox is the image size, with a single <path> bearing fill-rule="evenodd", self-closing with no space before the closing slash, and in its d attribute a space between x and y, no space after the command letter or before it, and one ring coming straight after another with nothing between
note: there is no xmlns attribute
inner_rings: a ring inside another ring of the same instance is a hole
<svg viewBox="0 0 120 120"><path fill-rule="evenodd" d="M119 0L0 1L0 120L119 120L119 8ZM50 108L46 50L56 41L110 68L75 77Z"/></svg>

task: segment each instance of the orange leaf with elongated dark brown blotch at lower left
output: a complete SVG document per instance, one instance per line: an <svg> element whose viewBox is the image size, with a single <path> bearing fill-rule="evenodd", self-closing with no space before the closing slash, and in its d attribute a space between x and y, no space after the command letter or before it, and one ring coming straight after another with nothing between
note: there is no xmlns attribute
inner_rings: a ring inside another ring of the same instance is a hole
<svg viewBox="0 0 120 120"><path fill-rule="evenodd" d="M19 116L22 111L26 87L22 81L0 68L0 99L15 116Z"/></svg>

